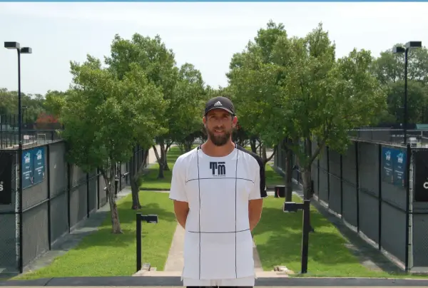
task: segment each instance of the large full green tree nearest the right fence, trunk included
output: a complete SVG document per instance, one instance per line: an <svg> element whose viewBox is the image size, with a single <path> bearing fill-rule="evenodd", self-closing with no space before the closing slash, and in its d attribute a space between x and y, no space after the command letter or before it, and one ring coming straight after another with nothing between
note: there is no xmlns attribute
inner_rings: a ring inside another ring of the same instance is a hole
<svg viewBox="0 0 428 288"><path fill-rule="evenodd" d="M335 45L322 24L290 44L291 65L284 71L279 101L268 101L283 110L275 110L275 119L292 140L290 149L297 155L305 197L310 198L312 162L325 146L343 153L350 143L348 131L369 125L385 107L386 97L370 73L370 51L354 49L335 61Z"/></svg>

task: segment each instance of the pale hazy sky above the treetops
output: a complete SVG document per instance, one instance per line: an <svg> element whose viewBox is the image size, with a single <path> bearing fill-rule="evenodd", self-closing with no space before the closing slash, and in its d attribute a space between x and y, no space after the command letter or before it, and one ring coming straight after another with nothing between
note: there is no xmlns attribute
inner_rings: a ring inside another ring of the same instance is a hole
<svg viewBox="0 0 428 288"><path fill-rule="evenodd" d="M428 46L428 3L1 3L0 41L33 48L21 57L21 89L44 94L71 83L70 61L103 59L115 34L160 35L180 66L192 63L205 84L227 86L230 59L272 19L290 36L322 22L338 57L353 48L374 56L395 43ZM16 52L0 47L0 88L17 90Z"/></svg>

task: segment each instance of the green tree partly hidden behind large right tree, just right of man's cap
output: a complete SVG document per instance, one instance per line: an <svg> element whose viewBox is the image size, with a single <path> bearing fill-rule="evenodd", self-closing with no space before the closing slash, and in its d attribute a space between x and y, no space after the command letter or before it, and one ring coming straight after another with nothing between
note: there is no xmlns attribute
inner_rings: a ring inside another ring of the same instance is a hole
<svg viewBox="0 0 428 288"><path fill-rule="evenodd" d="M275 61L273 51L280 38L287 38L284 25L269 21L266 29L258 31L254 41L248 43L245 51L233 55L230 72L227 74L240 125L248 135L253 152L257 153L257 142L263 143L261 156L265 163L275 155L279 139L272 138L272 134L266 131L259 121L260 118L270 115L270 110L265 106L265 97L271 92L267 87L272 82L265 74L260 73L260 68ZM266 157L266 146L274 148L270 158Z"/></svg>

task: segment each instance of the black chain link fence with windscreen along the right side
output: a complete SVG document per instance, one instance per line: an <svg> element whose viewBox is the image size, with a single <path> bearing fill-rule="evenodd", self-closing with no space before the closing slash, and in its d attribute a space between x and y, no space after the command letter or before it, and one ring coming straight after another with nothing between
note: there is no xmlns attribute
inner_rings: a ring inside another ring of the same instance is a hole
<svg viewBox="0 0 428 288"><path fill-rule="evenodd" d="M407 271L428 267L428 202L414 202L412 196L417 150L428 149L353 141L342 155L325 148L312 163L314 199ZM391 153L397 159L404 155L398 170L388 166ZM275 166L285 168L282 145ZM301 183L298 169L293 178Z"/></svg>

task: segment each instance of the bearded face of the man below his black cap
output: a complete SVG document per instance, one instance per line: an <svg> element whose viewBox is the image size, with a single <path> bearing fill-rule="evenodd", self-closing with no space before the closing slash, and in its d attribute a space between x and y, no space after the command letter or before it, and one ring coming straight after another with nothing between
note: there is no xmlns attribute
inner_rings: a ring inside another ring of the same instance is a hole
<svg viewBox="0 0 428 288"><path fill-rule="evenodd" d="M230 135L235 128L237 118L223 109L210 110L203 119L208 138L216 146L228 143Z"/></svg>

